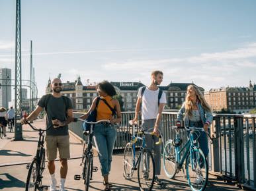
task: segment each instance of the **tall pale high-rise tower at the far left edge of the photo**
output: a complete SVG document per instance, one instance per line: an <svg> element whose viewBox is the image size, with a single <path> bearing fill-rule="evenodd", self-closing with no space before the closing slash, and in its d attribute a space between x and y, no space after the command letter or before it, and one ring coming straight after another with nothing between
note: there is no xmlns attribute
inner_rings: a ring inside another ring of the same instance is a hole
<svg viewBox="0 0 256 191"><path fill-rule="evenodd" d="M0 107L9 107L11 101L11 69L0 68Z"/></svg>

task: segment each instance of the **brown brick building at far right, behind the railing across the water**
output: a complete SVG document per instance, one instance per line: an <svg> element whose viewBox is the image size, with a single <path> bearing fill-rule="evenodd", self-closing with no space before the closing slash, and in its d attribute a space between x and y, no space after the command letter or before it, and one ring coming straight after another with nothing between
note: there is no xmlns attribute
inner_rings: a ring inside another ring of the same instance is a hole
<svg viewBox="0 0 256 191"><path fill-rule="evenodd" d="M235 113L248 113L256 107L256 85L249 87L222 87L204 94L213 111L226 109Z"/></svg>

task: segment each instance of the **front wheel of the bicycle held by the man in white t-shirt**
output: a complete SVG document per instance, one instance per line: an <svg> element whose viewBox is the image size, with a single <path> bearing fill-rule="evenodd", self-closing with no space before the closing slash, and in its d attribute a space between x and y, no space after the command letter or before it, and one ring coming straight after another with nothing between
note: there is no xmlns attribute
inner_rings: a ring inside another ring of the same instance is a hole
<svg viewBox="0 0 256 191"><path fill-rule="evenodd" d="M152 190L155 178L155 162L150 151L144 150L138 163L138 182L141 190Z"/></svg>

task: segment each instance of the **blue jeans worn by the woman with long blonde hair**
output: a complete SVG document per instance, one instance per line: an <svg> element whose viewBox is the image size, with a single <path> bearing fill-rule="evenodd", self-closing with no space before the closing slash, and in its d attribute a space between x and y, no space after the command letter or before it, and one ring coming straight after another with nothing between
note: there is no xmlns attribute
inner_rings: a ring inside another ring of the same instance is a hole
<svg viewBox="0 0 256 191"><path fill-rule="evenodd" d="M202 122L194 123L194 122L190 121L189 126L203 127L204 125L202 124ZM194 136L194 139L197 138L196 133L194 133L193 136ZM202 152L204 153L204 156L207 157L208 153L209 153L209 148L208 148L208 138L207 138L206 132L204 132L204 131L200 132L200 136L198 138L198 143L199 143L199 146L200 146Z"/></svg>

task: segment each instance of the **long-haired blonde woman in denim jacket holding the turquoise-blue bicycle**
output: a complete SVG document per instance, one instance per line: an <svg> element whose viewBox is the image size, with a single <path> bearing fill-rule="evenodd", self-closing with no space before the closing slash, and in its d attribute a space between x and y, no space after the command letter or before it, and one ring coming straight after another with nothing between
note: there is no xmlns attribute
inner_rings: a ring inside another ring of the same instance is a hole
<svg viewBox="0 0 256 191"><path fill-rule="evenodd" d="M177 114L177 126L181 126L183 114L185 114L185 126L203 127L205 131L208 131L212 123L213 117L210 105L208 105L204 95L194 85L189 85L187 88L186 100ZM205 157L207 157L209 148L206 132L200 133L198 142Z"/></svg>

